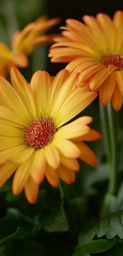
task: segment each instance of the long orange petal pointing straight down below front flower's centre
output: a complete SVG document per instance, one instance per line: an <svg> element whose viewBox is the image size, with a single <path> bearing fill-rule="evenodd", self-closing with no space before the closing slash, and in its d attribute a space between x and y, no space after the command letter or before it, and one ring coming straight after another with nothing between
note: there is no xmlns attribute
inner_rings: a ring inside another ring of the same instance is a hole
<svg viewBox="0 0 123 256"><path fill-rule="evenodd" d="M31 177L37 184L42 183L44 179L46 167L46 157L44 149L36 150L33 154L33 161L31 165Z"/></svg>

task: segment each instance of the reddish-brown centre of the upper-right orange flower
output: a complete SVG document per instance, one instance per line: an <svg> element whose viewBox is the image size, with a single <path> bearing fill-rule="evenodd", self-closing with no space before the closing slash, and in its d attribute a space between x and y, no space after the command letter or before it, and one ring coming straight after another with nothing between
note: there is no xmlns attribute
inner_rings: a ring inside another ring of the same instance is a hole
<svg viewBox="0 0 123 256"><path fill-rule="evenodd" d="M111 64L117 67L117 71L123 69L123 56L120 56L119 54L107 54L104 55L101 60L107 67Z"/></svg>

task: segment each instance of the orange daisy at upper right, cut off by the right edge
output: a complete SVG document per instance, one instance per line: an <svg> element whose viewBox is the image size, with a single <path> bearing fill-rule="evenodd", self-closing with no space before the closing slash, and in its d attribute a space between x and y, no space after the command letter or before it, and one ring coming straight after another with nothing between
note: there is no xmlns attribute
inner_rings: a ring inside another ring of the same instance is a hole
<svg viewBox="0 0 123 256"><path fill-rule="evenodd" d="M99 90L103 106L112 101L116 111L123 103L123 12L113 20L103 13L85 15L85 24L67 19L62 37L55 38L49 57L52 62L70 62L66 69L81 72L80 85Z"/></svg>

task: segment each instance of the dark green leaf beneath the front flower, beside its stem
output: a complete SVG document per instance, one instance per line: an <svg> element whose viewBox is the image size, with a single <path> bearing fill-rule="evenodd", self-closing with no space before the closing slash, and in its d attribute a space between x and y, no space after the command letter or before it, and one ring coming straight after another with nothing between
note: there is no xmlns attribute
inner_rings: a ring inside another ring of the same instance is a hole
<svg viewBox="0 0 123 256"><path fill-rule="evenodd" d="M67 218L63 207L53 211L40 222L40 227L45 232L64 232L68 230Z"/></svg>

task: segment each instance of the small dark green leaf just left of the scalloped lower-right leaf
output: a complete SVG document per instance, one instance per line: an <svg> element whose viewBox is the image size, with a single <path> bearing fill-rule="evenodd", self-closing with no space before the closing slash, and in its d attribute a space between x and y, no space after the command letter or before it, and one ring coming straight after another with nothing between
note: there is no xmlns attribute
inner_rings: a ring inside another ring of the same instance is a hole
<svg viewBox="0 0 123 256"><path fill-rule="evenodd" d="M90 242L95 237L96 232L96 221L88 221L79 233L78 244Z"/></svg>

